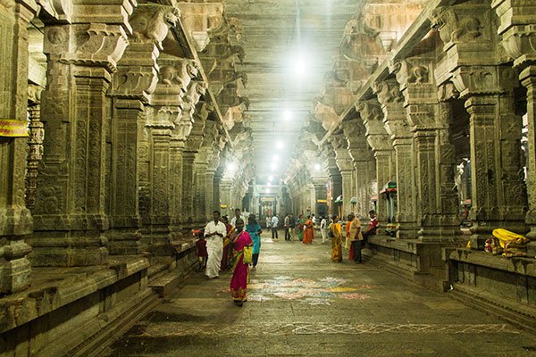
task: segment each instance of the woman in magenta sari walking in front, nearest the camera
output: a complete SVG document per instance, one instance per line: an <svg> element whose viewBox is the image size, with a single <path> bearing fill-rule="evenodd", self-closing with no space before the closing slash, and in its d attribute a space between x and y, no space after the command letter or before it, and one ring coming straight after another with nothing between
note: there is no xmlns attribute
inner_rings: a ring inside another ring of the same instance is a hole
<svg viewBox="0 0 536 357"><path fill-rule="evenodd" d="M249 275L249 265L243 262L244 247L252 245L253 241L249 233L243 230L244 220L236 221L237 237L232 242L232 278L230 278L230 295L232 295L235 305L242 307L247 302L247 276Z"/></svg>

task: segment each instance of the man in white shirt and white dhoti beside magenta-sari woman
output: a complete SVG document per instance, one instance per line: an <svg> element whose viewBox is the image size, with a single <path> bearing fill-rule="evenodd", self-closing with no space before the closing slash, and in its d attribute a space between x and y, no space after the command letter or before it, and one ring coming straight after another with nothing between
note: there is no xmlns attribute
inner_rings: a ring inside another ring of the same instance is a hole
<svg viewBox="0 0 536 357"><path fill-rule="evenodd" d="M205 226L206 253L206 278L218 278L220 276L220 264L222 263L223 254L223 237L227 234L225 224L220 221L220 212L213 212L214 220L208 222Z"/></svg>

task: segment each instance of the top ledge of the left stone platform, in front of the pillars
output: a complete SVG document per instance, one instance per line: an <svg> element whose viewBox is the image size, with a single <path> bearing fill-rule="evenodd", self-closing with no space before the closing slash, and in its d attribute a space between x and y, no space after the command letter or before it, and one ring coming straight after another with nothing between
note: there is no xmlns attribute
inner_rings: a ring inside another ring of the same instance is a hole
<svg viewBox="0 0 536 357"><path fill-rule="evenodd" d="M149 266L147 259L137 256L111 257L108 262L108 265L97 267L34 268L28 290L0 298L0 333L35 320Z"/></svg>

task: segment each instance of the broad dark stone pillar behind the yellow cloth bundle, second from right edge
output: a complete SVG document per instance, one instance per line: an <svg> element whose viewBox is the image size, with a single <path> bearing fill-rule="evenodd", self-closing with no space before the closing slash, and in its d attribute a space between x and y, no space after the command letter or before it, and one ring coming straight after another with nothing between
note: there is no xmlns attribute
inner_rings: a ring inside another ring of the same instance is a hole
<svg viewBox="0 0 536 357"><path fill-rule="evenodd" d="M471 130L472 239L479 248L494 228L524 233L527 207L519 176L522 120L515 114L515 72L509 67L490 67L485 73L490 83L467 87L463 93ZM461 71L460 77L464 75ZM460 77L456 78L458 86L463 81Z"/></svg>

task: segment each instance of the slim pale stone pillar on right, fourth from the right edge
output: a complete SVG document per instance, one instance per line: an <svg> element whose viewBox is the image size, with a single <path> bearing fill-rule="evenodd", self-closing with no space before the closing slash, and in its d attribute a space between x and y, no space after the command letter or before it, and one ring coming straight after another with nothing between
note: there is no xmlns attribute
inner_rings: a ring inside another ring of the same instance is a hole
<svg viewBox="0 0 536 357"><path fill-rule="evenodd" d="M416 237L415 216L415 171L413 163L413 135L406 120L404 97L398 89L396 79L376 83L374 91L378 95L383 112L383 124L395 149L398 238Z"/></svg>

